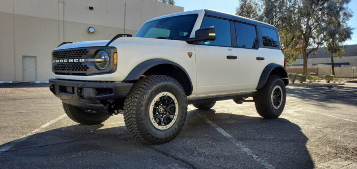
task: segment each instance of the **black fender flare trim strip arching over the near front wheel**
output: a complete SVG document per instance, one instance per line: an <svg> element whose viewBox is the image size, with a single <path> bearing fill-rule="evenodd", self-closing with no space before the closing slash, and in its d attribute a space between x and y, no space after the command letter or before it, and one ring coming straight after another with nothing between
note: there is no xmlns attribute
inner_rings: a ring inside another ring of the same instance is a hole
<svg viewBox="0 0 357 169"><path fill-rule="evenodd" d="M123 81L138 80L141 77L141 75L144 74L147 70L149 70L150 68L152 68L154 66L162 65L162 64L173 65L173 66L177 67L178 69L181 69L183 72L185 72L185 74L190 82L190 86L191 86L191 92L188 95L191 95L193 86L192 86L191 77L189 76L187 71L179 64L174 63L169 60L166 60L166 59L150 59L150 60L146 60L146 61L140 63L125 77L125 79Z"/></svg>

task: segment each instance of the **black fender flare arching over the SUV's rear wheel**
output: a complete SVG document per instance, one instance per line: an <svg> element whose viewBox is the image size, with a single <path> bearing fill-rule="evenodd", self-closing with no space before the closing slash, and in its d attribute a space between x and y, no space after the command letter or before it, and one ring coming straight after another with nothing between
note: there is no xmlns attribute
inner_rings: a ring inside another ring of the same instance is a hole
<svg viewBox="0 0 357 169"><path fill-rule="evenodd" d="M286 72L285 68L282 65L271 63L264 68L262 74L260 75L260 79L256 90L262 89L264 87L265 83L268 81L269 75L273 70L277 70L282 78L288 77L288 73ZM287 86L289 80L283 79L283 81L285 83L285 86Z"/></svg>

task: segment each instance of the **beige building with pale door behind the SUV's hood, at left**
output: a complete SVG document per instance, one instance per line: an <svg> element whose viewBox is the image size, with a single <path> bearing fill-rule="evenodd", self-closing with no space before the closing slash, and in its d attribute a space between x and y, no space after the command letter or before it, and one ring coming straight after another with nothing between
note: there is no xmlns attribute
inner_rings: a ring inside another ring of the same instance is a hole
<svg viewBox="0 0 357 169"><path fill-rule="evenodd" d="M3 82L51 78L51 52L62 42L110 40L124 32L135 36L146 20L184 11L153 0L0 0L0 4Z"/></svg>

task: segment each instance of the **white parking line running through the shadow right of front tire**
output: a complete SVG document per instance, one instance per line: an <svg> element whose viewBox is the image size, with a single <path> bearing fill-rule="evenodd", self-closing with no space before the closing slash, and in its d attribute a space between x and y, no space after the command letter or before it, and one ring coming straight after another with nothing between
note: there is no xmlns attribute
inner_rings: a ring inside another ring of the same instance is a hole
<svg viewBox="0 0 357 169"><path fill-rule="evenodd" d="M189 105L188 109L189 110L193 110L195 108L192 105ZM259 157L259 156L255 155L255 154L253 154L253 152L249 148L246 148L242 143L238 142L231 134L227 133L222 128L218 127L216 124L214 124L212 121L210 121L206 116L202 116L200 114L197 114L197 115L199 117L201 117L202 119L205 119L206 123L208 123L209 125L214 127L222 135L224 135L225 137L230 139L238 148L240 148L242 151L244 151L247 155L252 156L254 160L256 160L257 162L262 164L265 168L269 168L269 169L270 168L275 168L273 165L271 165L267 161L265 161L262 157Z"/></svg>

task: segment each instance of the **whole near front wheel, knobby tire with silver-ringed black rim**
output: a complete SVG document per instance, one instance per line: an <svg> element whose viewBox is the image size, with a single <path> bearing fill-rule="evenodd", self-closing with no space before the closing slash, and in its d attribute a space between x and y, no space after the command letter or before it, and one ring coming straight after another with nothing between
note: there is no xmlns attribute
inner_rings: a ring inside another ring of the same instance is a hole
<svg viewBox="0 0 357 169"><path fill-rule="evenodd" d="M136 140L156 145L176 137L185 124L187 100L172 77L150 75L139 79L124 102L124 122Z"/></svg>

